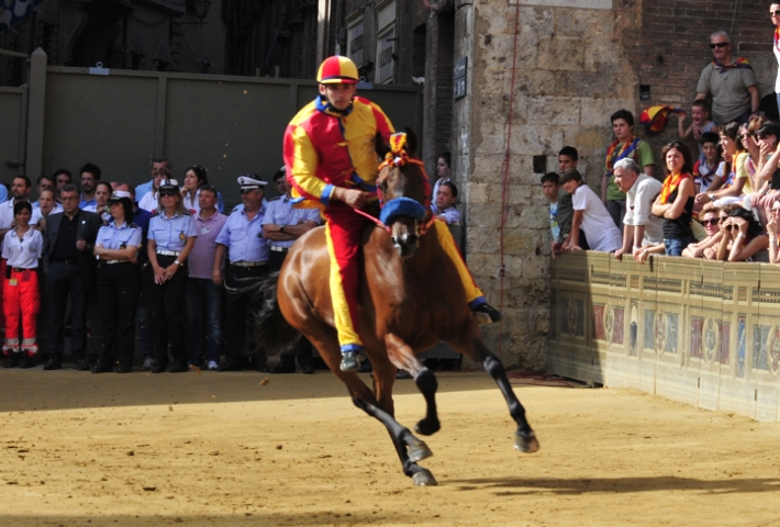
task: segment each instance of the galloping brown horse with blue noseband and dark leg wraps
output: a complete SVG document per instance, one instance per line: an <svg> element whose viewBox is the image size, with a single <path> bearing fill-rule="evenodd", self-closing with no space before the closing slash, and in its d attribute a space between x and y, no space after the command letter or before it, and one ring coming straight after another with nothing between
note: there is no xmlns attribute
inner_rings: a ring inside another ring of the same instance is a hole
<svg viewBox="0 0 780 527"><path fill-rule="evenodd" d="M381 158L389 152L379 135L376 149ZM386 209L399 202L414 205L411 200L421 208L426 203L430 186L422 164L414 158L415 150L416 138L409 133L403 153L404 156L408 153L409 162L390 164L380 169L377 186ZM411 373L427 403L425 417L415 430L423 435L437 431L436 378L415 354L442 339L471 360L480 361L495 380L517 424L515 448L534 452L538 442L501 361L482 340L455 265L439 245L436 229L443 224L434 224L427 234L421 235L420 215L414 216L416 218L383 215L391 232L367 227L363 237L359 334L374 367L372 392L357 373L339 369L342 354L334 328L327 278L331 260L324 228L310 231L296 243L278 282L276 276L271 276L259 284L266 306L258 315L258 338L266 351L272 354L289 347L298 332L305 335L347 385L355 405L387 427L404 474L413 478L415 485L435 485L433 474L417 464L432 455L431 450L393 417L392 386L397 368Z"/></svg>

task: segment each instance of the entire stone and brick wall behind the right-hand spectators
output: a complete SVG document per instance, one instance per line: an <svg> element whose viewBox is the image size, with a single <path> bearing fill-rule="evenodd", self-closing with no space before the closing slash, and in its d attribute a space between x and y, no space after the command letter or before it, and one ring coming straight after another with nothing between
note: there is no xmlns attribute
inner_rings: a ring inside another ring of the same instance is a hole
<svg viewBox="0 0 780 527"><path fill-rule="evenodd" d="M515 1L521 5L517 8ZM483 334L501 341L505 363L544 368L549 326L549 223L537 164L557 170L565 145L580 153L580 171L598 189L610 115L636 116L651 104L689 106L711 60L709 35L732 34L736 55L754 64L762 94L777 66L766 2L686 0L455 1L454 59L468 58L468 96L454 102L454 170L463 188L469 267L488 300L508 317ZM564 5L566 4L566 5ZM519 11L515 11L519 9ZM509 200L502 210L515 12L517 57L512 111ZM647 94L640 98L649 87ZM646 137L656 156L676 138L677 120ZM660 159L657 171L662 177ZM499 253L502 213L504 268ZM503 276L503 288L501 277ZM500 334L501 332L501 334Z"/></svg>

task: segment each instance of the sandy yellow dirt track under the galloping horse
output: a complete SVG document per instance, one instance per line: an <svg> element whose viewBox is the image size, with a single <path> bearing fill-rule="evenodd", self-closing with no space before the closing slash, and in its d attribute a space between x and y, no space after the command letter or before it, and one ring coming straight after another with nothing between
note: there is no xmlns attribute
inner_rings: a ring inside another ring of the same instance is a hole
<svg viewBox="0 0 780 527"><path fill-rule="evenodd" d="M628 390L442 373L443 429L413 487L328 372L0 371L0 525L780 525L780 426ZM368 380L368 377L366 375ZM399 419L424 403L397 384Z"/></svg>

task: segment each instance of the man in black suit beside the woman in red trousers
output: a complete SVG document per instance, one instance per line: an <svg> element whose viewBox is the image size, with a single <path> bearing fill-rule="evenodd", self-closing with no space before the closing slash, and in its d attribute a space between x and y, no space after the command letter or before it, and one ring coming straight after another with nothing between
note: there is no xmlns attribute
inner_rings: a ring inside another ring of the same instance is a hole
<svg viewBox="0 0 780 527"><path fill-rule="evenodd" d="M66 184L59 192L63 212L46 218L43 267L46 273L51 317L46 343L48 362L44 370L63 367L65 314L70 298L70 355L73 367L89 370L87 365L86 298L96 277L94 240L102 221L93 212L79 209L78 188Z"/></svg>

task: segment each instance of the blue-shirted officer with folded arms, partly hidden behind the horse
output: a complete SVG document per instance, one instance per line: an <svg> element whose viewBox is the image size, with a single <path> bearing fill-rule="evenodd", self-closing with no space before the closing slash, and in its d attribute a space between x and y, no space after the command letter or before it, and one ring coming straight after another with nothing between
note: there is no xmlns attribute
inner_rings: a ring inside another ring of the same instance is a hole
<svg viewBox="0 0 780 527"><path fill-rule="evenodd" d="M274 175L274 183L281 192L268 202L263 220L263 235L268 238L270 253L268 254L268 270L270 272L281 269L287 251L300 236L320 224L320 213L316 209L294 209L290 194L290 182L287 180L287 168L281 167ZM301 365L303 373L314 373L312 366L312 345L305 338L298 339L294 349L282 351L279 365L271 369L271 373L294 373L296 357Z"/></svg>

